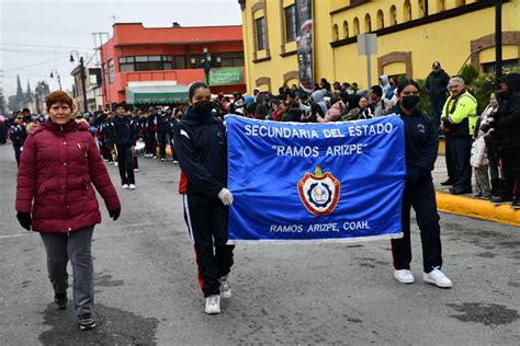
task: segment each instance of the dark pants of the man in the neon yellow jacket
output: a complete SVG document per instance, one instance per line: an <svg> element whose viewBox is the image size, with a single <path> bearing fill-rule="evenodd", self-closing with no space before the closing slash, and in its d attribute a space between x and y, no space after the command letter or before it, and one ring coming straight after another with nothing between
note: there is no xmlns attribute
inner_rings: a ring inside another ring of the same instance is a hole
<svg viewBox="0 0 520 346"><path fill-rule="evenodd" d="M448 177L453 182L455 188L472 189L471 152L472 138L470 136L446 136Z"/></svg>

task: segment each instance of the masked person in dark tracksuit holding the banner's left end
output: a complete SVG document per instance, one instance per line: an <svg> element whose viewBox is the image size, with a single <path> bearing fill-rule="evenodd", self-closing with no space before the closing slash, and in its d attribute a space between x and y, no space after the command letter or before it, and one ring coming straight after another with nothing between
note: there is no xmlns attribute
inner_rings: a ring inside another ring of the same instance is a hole
<svg viewBox="0 0 520 346"><path fill-rule="evenodd" d="M196 252L205 312L221 313L221 296L231 297L228 274L233 249L227 245L228 207L226 129L213 117L210 88L201 82L189 89L190 107L174 129L176 153L182 170L184 218Z"/></svg>

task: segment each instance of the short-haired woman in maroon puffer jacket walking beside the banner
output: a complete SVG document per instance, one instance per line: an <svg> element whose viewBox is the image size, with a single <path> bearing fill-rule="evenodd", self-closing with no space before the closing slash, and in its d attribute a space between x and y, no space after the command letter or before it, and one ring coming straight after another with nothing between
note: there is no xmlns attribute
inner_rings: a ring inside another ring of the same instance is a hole
<svg viewBox="0 0 520 346"><path fill-rule="evenodd" d="M59 309L67 308L70 260L76 314L81 330L90 330L95 326L92 233L101 222L92 184L114 220L121 214L121 204L88 124L72 119L72 99L55 91L46 103L49 122L36 126L23 148L16 217L23 228L32 228L42 237L54 300Z"/></svg>

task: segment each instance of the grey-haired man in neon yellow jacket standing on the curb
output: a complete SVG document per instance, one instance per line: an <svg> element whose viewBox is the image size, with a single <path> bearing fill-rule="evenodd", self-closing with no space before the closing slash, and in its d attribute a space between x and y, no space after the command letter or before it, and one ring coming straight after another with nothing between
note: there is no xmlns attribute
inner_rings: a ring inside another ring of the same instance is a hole
<svg viewBox="0 0 520 346"><path fill-rule="evenodd" d="M453 185L450 193L463 195L472 193L472 151L473 129L477 120L477 102L466 90L464 80L453 77L448 84L451 96L442 109L440 129L446 139L448 181L442 185Z"/></svg>

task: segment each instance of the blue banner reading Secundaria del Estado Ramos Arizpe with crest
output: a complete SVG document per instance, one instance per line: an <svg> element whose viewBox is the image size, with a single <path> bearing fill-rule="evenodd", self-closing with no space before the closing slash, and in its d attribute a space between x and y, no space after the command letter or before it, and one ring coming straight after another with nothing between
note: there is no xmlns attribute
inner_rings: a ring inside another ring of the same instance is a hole
<svg viewBox="0 0 520 346"><path fill-rule="evenodd" d="M400 238L397 116L297 124L227 116L229 240Z"/></svg>

